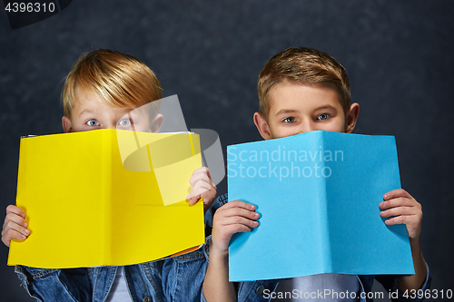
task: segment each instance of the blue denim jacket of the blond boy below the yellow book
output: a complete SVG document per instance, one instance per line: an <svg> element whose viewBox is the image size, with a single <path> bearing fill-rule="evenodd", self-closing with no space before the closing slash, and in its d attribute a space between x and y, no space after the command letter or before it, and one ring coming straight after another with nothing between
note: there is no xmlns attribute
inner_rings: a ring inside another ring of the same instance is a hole
<svg viewBox="0 0 454 302"><path fill-rule="evenodd" d="M200 301L207 267L205 245L191 253L124 267L133 302ZM104 302L114 283L117 267L29 268L15 272L37 301Z"/></svg>

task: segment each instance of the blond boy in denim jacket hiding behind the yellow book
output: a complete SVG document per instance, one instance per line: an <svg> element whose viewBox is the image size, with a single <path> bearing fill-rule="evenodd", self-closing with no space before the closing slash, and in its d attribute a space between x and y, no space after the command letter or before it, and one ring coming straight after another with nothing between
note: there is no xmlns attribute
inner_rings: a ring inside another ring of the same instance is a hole
<svg viewBox="0 0 454 302"><path fill-rule="evenodd" d="M64 83L64 132L127 128L129 125L136 131L159 132L163 122L161 114L153 121L142 119L137 123L131 118L133 109L159 99L161 85L158 79L150 68L133 56L110 50L84 54ZM125 118L128 115L129 118ZM216 194L209 170L195 170L190 182L192 192L187 200L193 205L202 197L206 211ZM22 209L10 205L6 212L2 241L9 246L11 239L25 240L30 231ZM206 263L204 255L199 248L183 256L126 267L44 269L17 266L15 272L30 296L39 301L187 301L188 298L200 299Z"/></svg>

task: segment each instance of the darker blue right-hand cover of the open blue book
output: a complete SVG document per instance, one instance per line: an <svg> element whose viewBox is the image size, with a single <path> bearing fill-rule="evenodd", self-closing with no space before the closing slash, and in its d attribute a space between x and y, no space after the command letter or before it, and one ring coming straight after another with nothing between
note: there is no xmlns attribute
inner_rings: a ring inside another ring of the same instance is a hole
<svg viewBox="0 0 454 302"><path fill-rule="evenodd" d="M338 161L325 161L332 272L413 274L406 226L380 217L383 195L400 188L394 137L321 133L325 153L341 151Z"/></svg>

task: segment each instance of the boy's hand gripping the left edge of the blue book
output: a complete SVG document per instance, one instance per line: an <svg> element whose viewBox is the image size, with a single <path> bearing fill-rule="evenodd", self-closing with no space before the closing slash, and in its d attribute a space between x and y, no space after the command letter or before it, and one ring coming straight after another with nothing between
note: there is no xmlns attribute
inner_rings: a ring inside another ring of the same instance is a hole
<svg viewBox="0 0 454 302"><path fill-rule="evenodd" d="M260 214L255 206L232 200L216 210L212 221L212 247L210 253L228 254L230 239L238 232L250 232L259 226Z"/></svg>

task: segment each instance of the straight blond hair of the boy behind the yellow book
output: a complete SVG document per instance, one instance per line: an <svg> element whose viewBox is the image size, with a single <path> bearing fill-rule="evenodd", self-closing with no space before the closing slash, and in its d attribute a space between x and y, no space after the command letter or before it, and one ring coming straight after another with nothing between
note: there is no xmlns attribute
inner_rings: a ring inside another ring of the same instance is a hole
<svg viewBox="0 0 454 302"><path fill-rule="evenodd" d="M140 107L161 99L161 84L142 61L108 49L83 54L66 76L62 91L64 115L71 118L75 93L95 93L117 107Z"/></svg>

